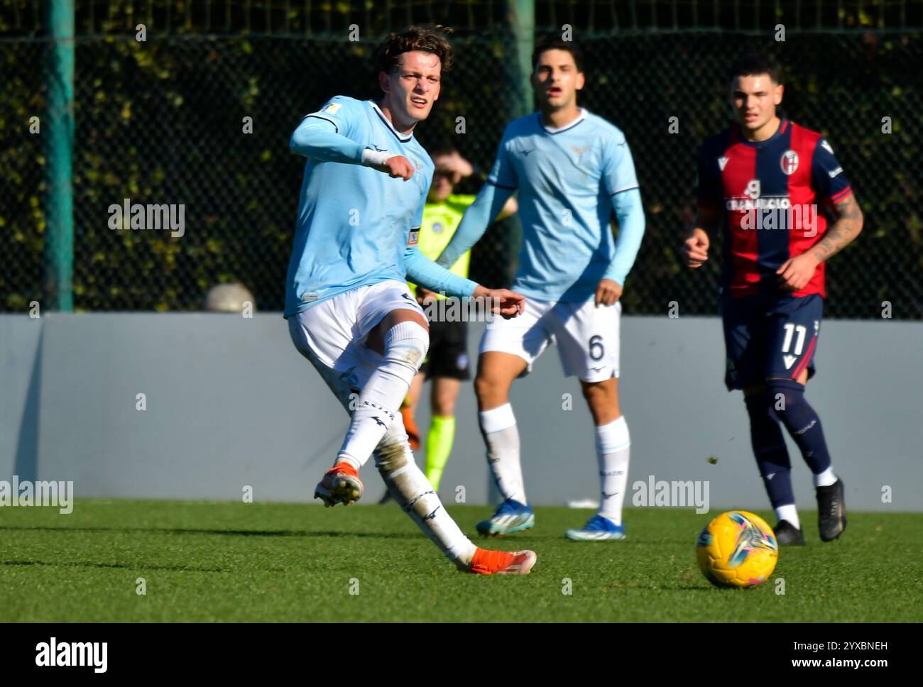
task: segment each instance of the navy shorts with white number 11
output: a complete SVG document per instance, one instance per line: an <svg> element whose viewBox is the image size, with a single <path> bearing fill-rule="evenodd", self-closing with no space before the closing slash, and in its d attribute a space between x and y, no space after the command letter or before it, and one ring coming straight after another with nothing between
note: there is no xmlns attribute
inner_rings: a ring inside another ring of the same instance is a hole
<svg viewBox="0 0 923 687"><path fill-rule="evenodd" d="M763 384L770 378L814 376L814 349L821 331L823 299L775 294L722 298L727 390Z"/></svg>

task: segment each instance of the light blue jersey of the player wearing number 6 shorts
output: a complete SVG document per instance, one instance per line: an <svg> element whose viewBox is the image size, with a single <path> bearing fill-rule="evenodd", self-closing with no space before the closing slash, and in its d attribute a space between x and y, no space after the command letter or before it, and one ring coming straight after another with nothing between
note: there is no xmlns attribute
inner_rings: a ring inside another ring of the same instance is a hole
<svg viewBox="0 0 923 687"><path fill-rule="evenodd" d="M557 129L545 126L540 113L514 120L487 182L440 265L470 247L518 190L522 247L513 290L542 301L581 302L602 278L624 284L644 221L634 162L616 126L585 110ZM613 207L618 246L609 228Z"/></svg>

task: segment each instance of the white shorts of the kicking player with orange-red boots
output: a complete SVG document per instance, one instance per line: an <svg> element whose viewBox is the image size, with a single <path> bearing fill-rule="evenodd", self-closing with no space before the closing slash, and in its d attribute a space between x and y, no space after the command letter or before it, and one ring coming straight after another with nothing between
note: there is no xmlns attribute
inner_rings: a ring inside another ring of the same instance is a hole
<svg viewBox="0 0 923 687"><path fill-rule="evenodd" d="M426 317L405 282L382 281L341 293L288 318L295 348L311 361L349 412L354 409L350 396L358 396L381 364L381 355L366 346L368 333L395 310L413 310Z"/></svg>

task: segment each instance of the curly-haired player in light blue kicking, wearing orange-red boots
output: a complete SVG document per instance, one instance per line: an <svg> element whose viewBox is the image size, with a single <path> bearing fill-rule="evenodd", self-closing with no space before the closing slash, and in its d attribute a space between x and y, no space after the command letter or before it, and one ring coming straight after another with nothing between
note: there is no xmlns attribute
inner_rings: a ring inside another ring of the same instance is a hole
<svg viewBox="0 0 923 687"><path fill-rule="evenodd" d="M374 455L391 496L460 570L526 574L533 551L486 551L464 536L417 468L398 411L429 347L407 278L490 299L504 317L521 314L523 298L454 275L416 247L433 162L414 127L439 97L449 41L439 27L410 27L390 34L377 57L378 101L336 96L306 115L290 142L307 161L285 317L295 347L352 415L315 498L328 506L357 501L359 469Z"/></svg>

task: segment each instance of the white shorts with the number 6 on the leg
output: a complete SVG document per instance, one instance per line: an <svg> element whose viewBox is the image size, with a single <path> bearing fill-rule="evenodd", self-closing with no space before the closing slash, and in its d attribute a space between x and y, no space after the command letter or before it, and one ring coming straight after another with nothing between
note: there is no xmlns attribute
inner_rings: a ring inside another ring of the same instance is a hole
<svg viewBox="0 0 923 687"><path fill-rule="evenodd" d="M557 355L565 376L584 382L602 382L618 376L618 323L621 302L615 305L586 302L553 302L526 299L525 312L487 323L480 353L497 350L512 353L528 363L521 376L532 372L532 363L557 343Z"/></svg>

